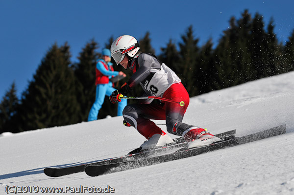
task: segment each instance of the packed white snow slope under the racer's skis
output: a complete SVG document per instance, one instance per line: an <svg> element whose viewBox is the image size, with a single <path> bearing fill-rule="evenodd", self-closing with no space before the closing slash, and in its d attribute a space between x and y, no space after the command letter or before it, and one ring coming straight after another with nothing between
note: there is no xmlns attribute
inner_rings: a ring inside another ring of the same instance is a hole
<svg viewBox="0 0 294 195"><path fill-rule="evenodd" d="M110 186L117 195L294 195L294 72L193 97L183 120L212 133L237 129L236 136L286 124L286 134L98 177L43 173L46 167L121 156L139 147L145 138L122 122L113 117L2 133L0 194L15 185Z"/></svg>

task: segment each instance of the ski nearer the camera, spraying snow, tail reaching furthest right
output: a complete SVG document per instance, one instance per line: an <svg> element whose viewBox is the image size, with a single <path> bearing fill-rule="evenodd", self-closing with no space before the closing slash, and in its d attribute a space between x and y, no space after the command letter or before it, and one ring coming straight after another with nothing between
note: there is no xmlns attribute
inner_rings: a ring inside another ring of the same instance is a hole
<svg viewBox="0 0 294 195"><path fill-rule="evenodd" d="M110 164L100 164L100 165L93 165L87 166L85 168L85 172L90 176L98 176L101 174L107 173L115 173L130 169L135 169L139 167L149 166L153 164L158 164L162 162L168 162L172 160L178 160L182 158L187 158L191 156L196 156L206 152L212 152L215 150L233 147L261 139L265 139L268 137L280 135L286 133L286 125L274 127L268 130L259 131L253 134L245 135L242 137L227 139L224 141L220 141L217 143L213 143L208 146L197 147L188 149L187 147L181 148L176 152L163 154L159 156L152 156L146 158L138 158L130 161L118 162L118 163L110 163Z"/></svg>

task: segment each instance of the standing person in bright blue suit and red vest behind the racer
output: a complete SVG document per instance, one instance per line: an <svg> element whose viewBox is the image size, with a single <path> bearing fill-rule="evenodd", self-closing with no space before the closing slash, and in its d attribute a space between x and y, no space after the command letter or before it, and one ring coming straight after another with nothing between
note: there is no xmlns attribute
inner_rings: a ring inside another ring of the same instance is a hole
<svg viewBox="0 0 294 195"><path fill-rule="evenodd" d="M96 64L96 99L90 109L88 121L97 120L99 109L101 108L105 95L110 96L112 91L116 90L113 87L113 83L109 81L110 78L123 75L126 76L122 71L114 71L111 61L111 53L109 49L102 49L102 59L99 59ZM122 116L123 108L126 106L127 101L123 100L118 105L118 116Z"/></svg>

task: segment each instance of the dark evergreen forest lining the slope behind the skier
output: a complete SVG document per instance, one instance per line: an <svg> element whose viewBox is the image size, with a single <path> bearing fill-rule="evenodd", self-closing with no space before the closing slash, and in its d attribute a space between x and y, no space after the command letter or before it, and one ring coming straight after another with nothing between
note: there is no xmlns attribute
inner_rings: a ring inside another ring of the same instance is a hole
<svg viewBox="0 0 294 195"><path fill-rule="evenodd" d="M169 40L157 51L158 58L180 77L190 97L240 85L294 70L294 30L285 43L277 40L274 20L265 25L262 15L251 15L245 10L240 18L231 17L229 28L222 32L217 45L208 40L199 45L193 26L183 29L180 42ZM221 32L220 32L221 33ZM154 53L150 33L138 39L140 51ZM20 99L15 83L0 99L0 133L13 133L63 126L87 121L95 101L95 66L102 48L109 48L116 37L110 37L103 46L94 39L85 43L77 62L71 62L70 43L50 46L40 62L33 79ZM113 59L112 59L113 60ZM115 87L119 88L132 75L130 70L115 65L127 77ZM130 96L140 96L137 86ZM134 103L135 101L128 101ZM116 116L117 104L105 97L98 119Z"/></svg>

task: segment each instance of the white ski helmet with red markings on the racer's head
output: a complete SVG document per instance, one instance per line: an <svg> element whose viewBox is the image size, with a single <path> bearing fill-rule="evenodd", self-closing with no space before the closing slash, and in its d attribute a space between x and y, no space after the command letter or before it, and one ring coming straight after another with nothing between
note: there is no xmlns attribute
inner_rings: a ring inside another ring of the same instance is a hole
<svg viewBox="0 0 294 195"><path fill-rule="evenodd" d="M130 35L120 36L111 44L110 47L111 56L117 65L122 62L125 54L132 58L136 55L139 49L140 47L138 41Z"/></svg>

